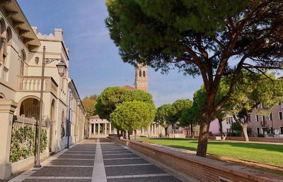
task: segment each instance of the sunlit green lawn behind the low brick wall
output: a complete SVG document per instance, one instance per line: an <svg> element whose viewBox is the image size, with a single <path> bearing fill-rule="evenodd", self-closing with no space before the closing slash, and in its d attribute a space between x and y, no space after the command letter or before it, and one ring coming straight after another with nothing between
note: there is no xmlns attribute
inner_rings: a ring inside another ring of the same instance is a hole
<svg viewBox="0 0 283 182"><path fill-rule="evenodd" d="M197 140L192 139L139 138L139 140L187 150L197 150ZM283 145L209 140L207 153L283 166Z"/></svg>

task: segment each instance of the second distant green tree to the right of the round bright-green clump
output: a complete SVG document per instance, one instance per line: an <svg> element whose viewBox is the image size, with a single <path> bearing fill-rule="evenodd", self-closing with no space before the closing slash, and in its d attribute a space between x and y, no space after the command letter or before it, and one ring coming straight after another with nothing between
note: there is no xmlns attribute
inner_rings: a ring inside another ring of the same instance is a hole
<svg viewBox="0 0 283 182"><path fill-rule="evenodd" d="M172 131L175 134L176 124L180 123L180 118L183 111L192 107L192 101L190 99L178 99L173 102L171 109L166 117L167 121L172 126Z"/></svg>

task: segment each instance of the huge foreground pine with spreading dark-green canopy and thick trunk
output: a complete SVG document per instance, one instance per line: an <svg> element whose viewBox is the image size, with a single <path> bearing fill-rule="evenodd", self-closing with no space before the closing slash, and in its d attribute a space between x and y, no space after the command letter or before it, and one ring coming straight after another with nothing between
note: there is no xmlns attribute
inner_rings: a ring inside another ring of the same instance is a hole
<svg viewBox="0 0 283 182"><path fill-rule="evenodd" d="M206 157L209 124L233 94L242 69L282 69L282 0L108 0L105 20L123 61L201 75L205 100L197 155ZM216 102L221 79L231 76Z"/></svg>

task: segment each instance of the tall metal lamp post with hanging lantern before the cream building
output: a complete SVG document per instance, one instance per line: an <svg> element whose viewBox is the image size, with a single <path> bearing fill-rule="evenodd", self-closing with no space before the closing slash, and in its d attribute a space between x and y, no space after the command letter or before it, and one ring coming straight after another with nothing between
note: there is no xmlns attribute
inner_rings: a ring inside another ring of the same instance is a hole
<svg viewBox="0 0 283 182"><path fill-rule="evenodd" d="M37 148L36 148L36 158L35 158L35 167L41 167L40 165L40 139L41 139L41 123L42 123L42 106L43 106L43 83L44 83L44 73L45 73L45 65L48 63L52 63L53 61L60 61L56 66L58 68L58 73L60 76L64 75L64 69L67 68L66 64L62 61L62 59L47 59L45 58L45 46L43 46L43 54L42 54L42 70L41 70L41 87L40 87L40 120L38 121L38 130L37 130ZM39 57L35 57L35 61L39 61Z"/></svg>

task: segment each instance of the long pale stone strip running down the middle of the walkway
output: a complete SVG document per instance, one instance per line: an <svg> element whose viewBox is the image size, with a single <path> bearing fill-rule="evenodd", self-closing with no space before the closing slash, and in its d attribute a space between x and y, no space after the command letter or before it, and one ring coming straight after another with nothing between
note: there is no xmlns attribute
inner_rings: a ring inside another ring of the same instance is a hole
<svg viewBox="0 0 283 182"><path fill-rule="evenodd" d="M91 182L98 182L98 181L107 182L99 138L97 139L96 142L96 159L94 159L93 175L91 178Z"/></svg>

